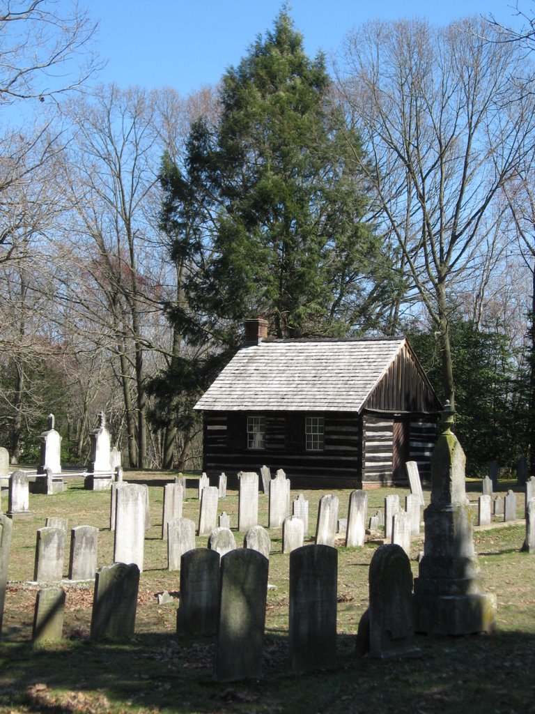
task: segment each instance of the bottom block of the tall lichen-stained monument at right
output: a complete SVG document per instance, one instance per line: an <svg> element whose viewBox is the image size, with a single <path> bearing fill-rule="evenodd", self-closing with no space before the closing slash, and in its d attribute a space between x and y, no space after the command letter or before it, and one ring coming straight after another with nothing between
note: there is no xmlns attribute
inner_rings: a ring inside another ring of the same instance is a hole
<svg viewBox="0 0 535 714"><path fill-rule="evenodd" d="M430 635L491 633L496 626L496 595L417 595L414 580L414 631Z"/></svg>

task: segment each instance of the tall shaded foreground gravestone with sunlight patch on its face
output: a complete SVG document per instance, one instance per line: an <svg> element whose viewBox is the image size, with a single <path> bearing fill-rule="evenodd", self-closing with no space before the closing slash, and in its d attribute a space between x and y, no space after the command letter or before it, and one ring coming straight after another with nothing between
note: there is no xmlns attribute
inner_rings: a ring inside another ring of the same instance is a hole
<svg viewBox="0 0 535 714"><path fill-rule="evenodd" d="M258 550L231 550L221 558L214 678L220 682L262 675L269 560Z"/></svg>

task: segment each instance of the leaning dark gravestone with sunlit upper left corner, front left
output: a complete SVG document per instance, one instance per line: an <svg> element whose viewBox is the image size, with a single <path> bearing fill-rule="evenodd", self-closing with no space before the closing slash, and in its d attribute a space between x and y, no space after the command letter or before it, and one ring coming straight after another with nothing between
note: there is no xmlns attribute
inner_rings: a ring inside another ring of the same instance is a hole
<svg viewBox="0 0 535 714"><path fill-rule="evenodd" d="M96 571L91 640L130 640L136 627L139 568L113 563Z"/></svg>

